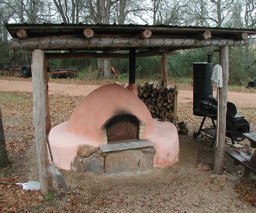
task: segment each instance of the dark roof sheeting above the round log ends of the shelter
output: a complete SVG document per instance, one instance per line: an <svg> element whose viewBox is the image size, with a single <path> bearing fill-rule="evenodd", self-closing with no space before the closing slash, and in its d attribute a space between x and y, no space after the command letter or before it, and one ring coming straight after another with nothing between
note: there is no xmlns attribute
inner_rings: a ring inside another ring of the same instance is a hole
<svg viewBox="0 0 256 213"><path fill-rule="evenodd" d="M198 26L171 25L134 25L134 24L6 24L10 35L17 38L17 31L24 29L29 38L50 36L82 37L83 30L92 29L95 36L133 37L148 29L152 31L152 38L199 38L207 30L211 31L213 39L238 38L241 33L256 34L256 29L206 28Z"/></svg>

